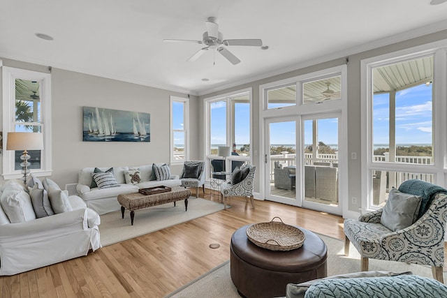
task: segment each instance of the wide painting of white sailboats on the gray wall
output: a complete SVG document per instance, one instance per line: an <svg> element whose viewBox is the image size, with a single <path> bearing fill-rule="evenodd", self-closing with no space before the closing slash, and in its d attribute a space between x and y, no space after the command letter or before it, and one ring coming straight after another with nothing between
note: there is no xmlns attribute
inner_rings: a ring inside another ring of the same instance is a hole
<svg viewBox="0 0 447 298"><path fill-rule="evenodd" d="M85 142L150 142L151 114L83 107Z"/></svg>

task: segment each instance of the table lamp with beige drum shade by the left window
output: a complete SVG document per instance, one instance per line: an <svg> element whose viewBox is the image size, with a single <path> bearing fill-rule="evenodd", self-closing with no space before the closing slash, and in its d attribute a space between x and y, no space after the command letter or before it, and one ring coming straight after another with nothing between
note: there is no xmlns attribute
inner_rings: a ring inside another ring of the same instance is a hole
<svg viewBox="0 0 447 298"><path fill-rule="evenodd" d="M29 174L28 167L30 156L27 150L42 150L43 149L43 135L41 133L8 133L6 139L6 150L23 150L20 159L22 163L22 174L24 184L27 184L27 174Z"/></svg>

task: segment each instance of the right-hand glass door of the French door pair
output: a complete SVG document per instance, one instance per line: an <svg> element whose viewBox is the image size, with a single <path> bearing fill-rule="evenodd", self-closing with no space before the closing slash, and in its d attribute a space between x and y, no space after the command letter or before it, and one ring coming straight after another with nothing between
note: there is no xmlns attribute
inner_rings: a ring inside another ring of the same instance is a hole
<svg viewBox="0 0 447 298"><path fill-rule="evenodd" d="M339 117L303 117L302 206L342 214L339 205Z"/></svg>

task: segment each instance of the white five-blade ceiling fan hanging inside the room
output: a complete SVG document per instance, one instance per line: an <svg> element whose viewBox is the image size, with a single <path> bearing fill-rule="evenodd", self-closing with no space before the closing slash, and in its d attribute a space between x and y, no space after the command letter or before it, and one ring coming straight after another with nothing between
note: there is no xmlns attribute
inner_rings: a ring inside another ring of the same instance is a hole
<svg viewBox="0 0 447 298"><path fill-rule="evenodd" d="M230 61L233 65L240 63L234 54L226 49L226 46L230 45L242 45L251 47L261 47L263 40L261 39L223 39L223 35L219 32L219 24L216 23L215 17L208 17L205 21L207 31L203 32L202 40L185 40L185 39L163 39L166 42L187 42L198 43L200 45L206 45L189 57L186 61L196 61L198 57L202 56L208 50L217 50L223 57Z"/></svg>

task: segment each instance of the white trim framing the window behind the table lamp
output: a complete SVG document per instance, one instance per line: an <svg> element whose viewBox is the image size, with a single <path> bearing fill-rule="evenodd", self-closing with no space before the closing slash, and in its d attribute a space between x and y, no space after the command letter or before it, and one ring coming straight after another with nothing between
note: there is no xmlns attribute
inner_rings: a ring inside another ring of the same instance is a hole
<svg viewBox="0 0 447 298"><path fill-rule="evenodd" d="M14 151L6 150L8 132L15 131L15 79L39 81L41 83L41 123L43 133L43 151L41 169L31 173L38 177L52 173L51 148L51 75L32 70L3 66L3 179L17 179L23 176L21 170L14 169Z"/></svg>

